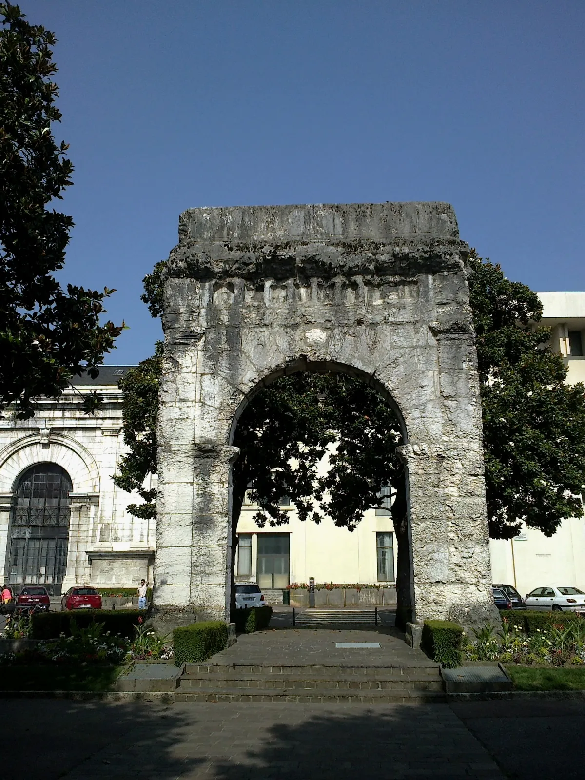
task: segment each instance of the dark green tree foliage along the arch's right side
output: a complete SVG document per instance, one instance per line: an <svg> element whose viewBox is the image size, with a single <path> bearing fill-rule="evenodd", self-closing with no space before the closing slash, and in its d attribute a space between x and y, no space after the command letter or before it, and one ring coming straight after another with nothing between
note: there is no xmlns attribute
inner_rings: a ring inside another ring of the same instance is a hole
<svg viewBox="0 0 585 780"><path fill-rule="evenodd" d="M548 328L535 327L536 293L474 250L469 263L490 535L512 538L524 522L551 536L562 519L583 514L583 385L565 384Z"/></svg>

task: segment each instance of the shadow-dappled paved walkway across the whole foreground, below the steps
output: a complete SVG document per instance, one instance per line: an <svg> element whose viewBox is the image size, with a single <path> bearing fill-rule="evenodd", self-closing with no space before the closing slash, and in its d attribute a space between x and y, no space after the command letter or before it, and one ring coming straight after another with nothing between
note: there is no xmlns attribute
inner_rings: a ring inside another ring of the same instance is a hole
<svg viewBox="0 0 585 780"><path fill-rule="evenodd" d="M0 700L0 780L581 780L585 704ZM559 753L558 744L562 742Z"/></svg>

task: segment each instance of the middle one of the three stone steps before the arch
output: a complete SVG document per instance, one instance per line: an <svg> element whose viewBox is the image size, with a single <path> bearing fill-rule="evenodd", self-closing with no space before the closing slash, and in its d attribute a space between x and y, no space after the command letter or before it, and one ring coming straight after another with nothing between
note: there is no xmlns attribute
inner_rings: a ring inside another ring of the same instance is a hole
<svg viewBox="0 0 585 780"><path fill-rule="evenodd" d="M434 690L442 691L443 683L440 677L428 677L409 679L404 677L388 679L336 679L335 677L323 679L291 679L283 675L260 677L248 675L237 677L234 675L202 675L200 677L183 676L180 689L183 690L218 690L224 688L238 688L247 690L337 690L337 691L373 691L373 690Z"/></svg>

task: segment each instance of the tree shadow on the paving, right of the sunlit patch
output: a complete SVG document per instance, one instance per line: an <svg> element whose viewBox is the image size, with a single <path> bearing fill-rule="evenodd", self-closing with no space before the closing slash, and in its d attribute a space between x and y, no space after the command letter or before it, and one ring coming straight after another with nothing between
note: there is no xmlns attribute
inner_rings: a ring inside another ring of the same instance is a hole
<svg viewBox="0 0 585 780"><path fill-rule="evenodd" d="M286 717L275 721L238 760L218 761L216 778L503 778L445 705L324 705L310 711L289 705Z"/></svg>

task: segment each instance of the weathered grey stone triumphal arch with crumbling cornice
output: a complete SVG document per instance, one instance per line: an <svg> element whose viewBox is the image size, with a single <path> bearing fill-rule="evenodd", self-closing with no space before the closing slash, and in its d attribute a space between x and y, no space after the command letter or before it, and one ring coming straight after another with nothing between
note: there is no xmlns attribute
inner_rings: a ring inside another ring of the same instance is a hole
<svg viewBox="0 0 585 780"><path fill-rule="evenodd" d="M404 424L417 619L493 612L468 247L444 203L194 208L165 282L154 606L225 618L237 417L271 378L372 378Z"/></svg>

